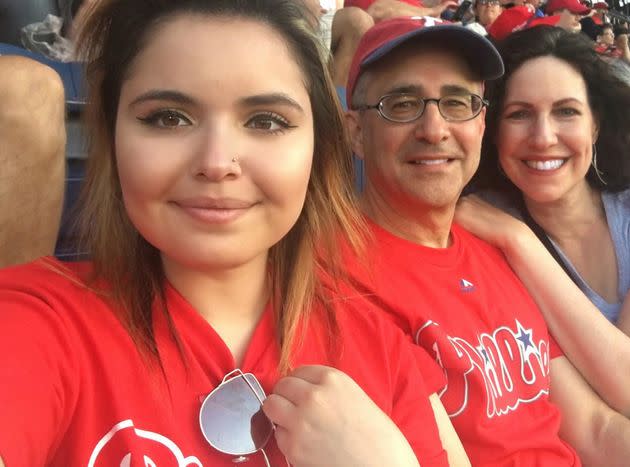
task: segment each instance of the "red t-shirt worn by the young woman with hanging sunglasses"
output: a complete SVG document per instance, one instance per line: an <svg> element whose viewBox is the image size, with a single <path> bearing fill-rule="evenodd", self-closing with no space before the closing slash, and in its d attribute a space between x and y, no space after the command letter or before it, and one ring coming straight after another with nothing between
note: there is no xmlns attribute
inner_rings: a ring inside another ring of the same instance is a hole
<svg viewBox="0 0 630 467"><path fill-rule="evenodd" d="M108 305L76 283L86 266L69 265L68 277L41 262L0 271L0 457L7 467L233 467L234 456L213 449L199 428L203 399L236 365L221 337L167 286L186 366L157 310L164 373L148 366ZM360 300L340 301L337 311L334 357L314 321L295 365L334 363L398 424L423 466L447 465L408 340ZM273 336L268 307L240 367L267 393L279 377ZM443 385L434 367L426 368L429 384ZM272 465L285 465L273 438L265 451ZM264 465L260 453L249 457L246 465Z"/></svg>

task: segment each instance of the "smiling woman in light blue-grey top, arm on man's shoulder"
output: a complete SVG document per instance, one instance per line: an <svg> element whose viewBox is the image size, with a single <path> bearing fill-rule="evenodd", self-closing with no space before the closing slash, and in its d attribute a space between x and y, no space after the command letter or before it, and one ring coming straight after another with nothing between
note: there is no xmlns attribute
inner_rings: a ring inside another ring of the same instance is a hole
<svg viewBox="0 0 630 467"><path fill-rule="evenodd" d="M628 416L630 338L614 323L630 290L630 87L588 38L558 28L499 50L506 73L488 89L474 183L531 230L477 200L459 220L503 249L566 355Z"/></svg>

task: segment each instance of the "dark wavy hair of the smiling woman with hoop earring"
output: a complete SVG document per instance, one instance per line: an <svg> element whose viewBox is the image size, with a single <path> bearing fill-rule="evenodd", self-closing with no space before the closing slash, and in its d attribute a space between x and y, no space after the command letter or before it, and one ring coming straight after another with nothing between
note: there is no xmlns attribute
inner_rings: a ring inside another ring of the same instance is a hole
<svg viewBox="0 0 630 467"><path fill-rule="evenodd" d="M493 189L518 196L518 188L502 174L494 144L505 99L506 85L514 72L528 60L551 56L564 60L586 83L588 104L599 126L595 143L597 166L606 184L591 165L586 179L599 191L621 191L630 186L630 86L611 70L610 64L593 49L593 42L552 26L537 26L509 35L497 44L505 63L502 78L488 83L486 133L479 170L472 189ZM535 86L535 84L534 84Z"/></svg>

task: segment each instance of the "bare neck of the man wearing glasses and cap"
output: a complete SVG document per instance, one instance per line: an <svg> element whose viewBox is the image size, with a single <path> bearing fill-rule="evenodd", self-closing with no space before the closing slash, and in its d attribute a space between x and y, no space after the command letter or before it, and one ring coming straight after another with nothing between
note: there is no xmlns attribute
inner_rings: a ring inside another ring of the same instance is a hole
<svg viewBox="0 0 630 467"><path fill-rule="evenodd" d="M455 206L408 206L399 209L377 197L363 196L361 209L374 223L397 237L430 248L451 245Z"/></svg>

